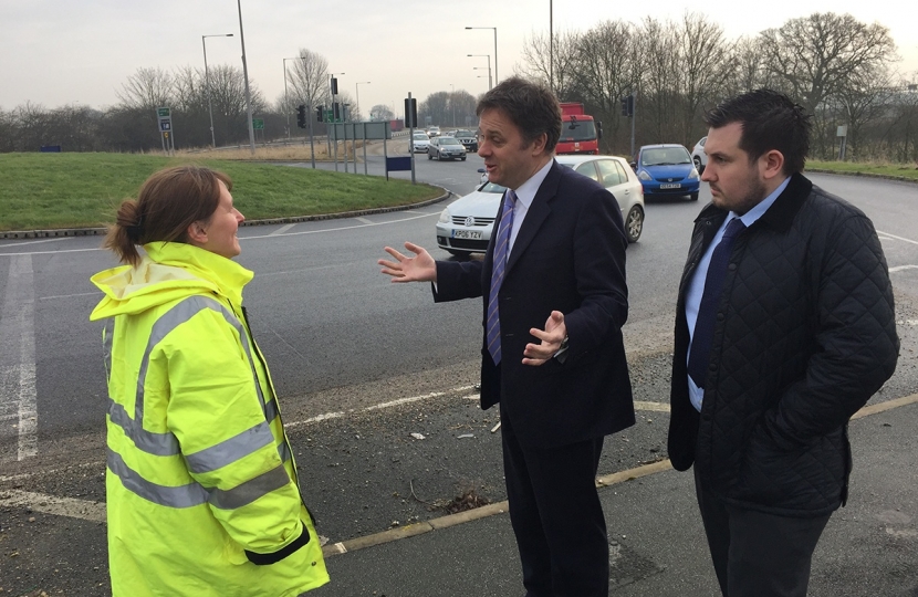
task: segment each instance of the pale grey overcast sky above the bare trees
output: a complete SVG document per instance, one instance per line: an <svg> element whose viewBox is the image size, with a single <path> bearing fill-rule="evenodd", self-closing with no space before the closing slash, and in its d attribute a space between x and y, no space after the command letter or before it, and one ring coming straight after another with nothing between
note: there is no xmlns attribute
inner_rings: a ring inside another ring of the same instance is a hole
<svg viewBox="0 0 918 597"><path fill-rule="evenodd" d="M724 29L728 39L781 27L812 12L848 12L863 22L889 28L903 62L898 69L916 77L918 28L899 0L772 0L749 4L709 0L686 4L671 0L625 2L553 0L554 30L584 31L604 20L639 22L647 15L679 20L687 7ZM340 7L338 12L328 12ZM533 33L547 33L549 0L242 0L242 23L249 76L269 102L283 94L284 57L301 48L328 60L330 71L345 73L340 86L359 98L364 113L375 104L395 104L413 92L424 100L437 91L488 88L486 57L494 67L498 28L498 74L513 73ZM201 35L208 38L207 61L241 66L236 0L0 0L0 108L27 101L52 108L65 104L104 107L118 102L116 92L140 67L204 67ZM479 75L482 75L479 77Z"/></svg>

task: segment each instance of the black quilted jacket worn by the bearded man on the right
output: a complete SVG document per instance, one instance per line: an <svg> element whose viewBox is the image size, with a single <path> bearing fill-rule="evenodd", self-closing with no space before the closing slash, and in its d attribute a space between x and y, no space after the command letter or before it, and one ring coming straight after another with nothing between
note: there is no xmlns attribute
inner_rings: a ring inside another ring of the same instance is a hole
<svg viewBox="0 0 918 597"><path fill-rule="evenodd" d="M847 496L847 421L896 368L886 259L860 210L794 175L733 247L699 413L685 293L726 217L701 211L679 284L669 458L729 503L827 514Z"/></svg>

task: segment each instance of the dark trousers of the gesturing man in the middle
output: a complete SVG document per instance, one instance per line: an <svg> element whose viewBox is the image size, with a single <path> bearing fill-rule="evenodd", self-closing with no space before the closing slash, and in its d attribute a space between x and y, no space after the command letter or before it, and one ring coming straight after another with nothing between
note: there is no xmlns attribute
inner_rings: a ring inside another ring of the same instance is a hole
<svg viewBox="0 0 918 597"><path fill-rule="evenodd" d="M501 437L526 597L607 597L608 538L596 492L603 438L524 447L503 408Z"/></svg>

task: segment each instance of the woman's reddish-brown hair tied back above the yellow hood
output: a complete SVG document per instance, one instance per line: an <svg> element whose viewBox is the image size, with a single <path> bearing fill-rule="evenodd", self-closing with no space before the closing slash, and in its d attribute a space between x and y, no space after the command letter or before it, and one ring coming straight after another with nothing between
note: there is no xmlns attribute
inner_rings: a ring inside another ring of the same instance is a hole
<svg viewBox="0 0 918 597"><path fill-rule="evenodd" d="M137 265L137 244L187 243L188 227L208 221L217 211L220 182L232 190L227 175L201 166L175 166L154 172L140 187L136 200L122 201L103 245L112 249L123 263Z"/></svg>

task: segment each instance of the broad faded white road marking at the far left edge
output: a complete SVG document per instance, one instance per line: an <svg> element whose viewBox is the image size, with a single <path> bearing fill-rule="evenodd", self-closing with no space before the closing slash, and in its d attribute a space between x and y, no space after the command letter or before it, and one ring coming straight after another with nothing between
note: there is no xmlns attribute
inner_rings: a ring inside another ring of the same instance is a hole
<svg viewBox="0 0 918 597"><path fill-rule="evenodd" d="M17 460L38 453L35 407L35 300L31 255L10 263L7 293L0 307L0 417L15 425L0 436L18 436Z"/></svg>

